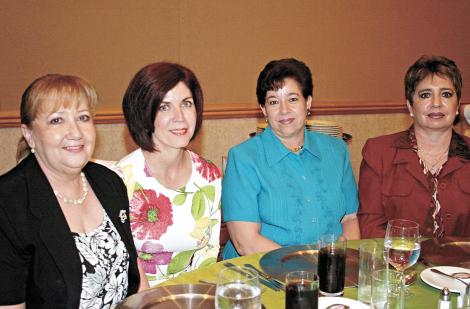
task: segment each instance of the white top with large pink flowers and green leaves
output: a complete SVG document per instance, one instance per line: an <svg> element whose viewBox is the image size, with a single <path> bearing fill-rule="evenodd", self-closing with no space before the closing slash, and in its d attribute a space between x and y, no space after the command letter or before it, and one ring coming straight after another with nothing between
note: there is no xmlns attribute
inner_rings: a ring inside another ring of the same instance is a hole
<svg viewBox="0 0 470 309"><path fill-rule="evenodd" d="M150 286L217 260L221 175L213 163L187 151L192 173L178 190L152 176L141 149L113 167L127 186L134 243Z"/></svg>

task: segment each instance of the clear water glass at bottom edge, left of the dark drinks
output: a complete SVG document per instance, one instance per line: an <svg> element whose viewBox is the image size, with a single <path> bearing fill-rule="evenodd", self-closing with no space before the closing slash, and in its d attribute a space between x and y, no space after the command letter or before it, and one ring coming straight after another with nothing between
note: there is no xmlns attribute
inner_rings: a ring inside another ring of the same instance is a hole
<svg viewBox="0 0 470 309"><path fill-rule="evenodd" d="M247 267L227 267L217 280L215 308L261 309L258 274Z"/></svg>

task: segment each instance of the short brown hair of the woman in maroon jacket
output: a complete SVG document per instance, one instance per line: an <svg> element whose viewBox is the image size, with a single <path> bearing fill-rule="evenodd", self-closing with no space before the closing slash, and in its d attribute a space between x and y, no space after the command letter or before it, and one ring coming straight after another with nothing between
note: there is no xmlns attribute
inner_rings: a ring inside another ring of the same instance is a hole
<svg viewBox="0 0 470 309"><path fill-rule="evenodd" d="M438 75L448 78L455 87L457 100L462 96L462 75L455 62L444 56L421 56L405 75L405 96L413 105L413 95L418 84L429 75Z"/></svg>

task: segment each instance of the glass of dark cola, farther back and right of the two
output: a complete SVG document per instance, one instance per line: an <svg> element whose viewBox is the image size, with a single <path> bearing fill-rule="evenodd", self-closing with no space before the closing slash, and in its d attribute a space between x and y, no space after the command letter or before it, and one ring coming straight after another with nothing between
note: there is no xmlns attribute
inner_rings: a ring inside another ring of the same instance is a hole
<svg viewBox="0 0 470 309"><path fill-rule="evenodd" d="M320 237L318 251L318 276L320 293L341 296L346 277L346 240L337 240L333 234Z"/></svg>

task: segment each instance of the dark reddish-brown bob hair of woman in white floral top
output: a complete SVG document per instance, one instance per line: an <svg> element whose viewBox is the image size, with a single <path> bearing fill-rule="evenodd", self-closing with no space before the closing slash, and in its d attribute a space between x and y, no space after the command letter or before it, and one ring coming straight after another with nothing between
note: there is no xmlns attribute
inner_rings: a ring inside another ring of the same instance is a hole
<svg viewBox="0 0 470 309"><path fill-rule="evenodd" d="M122 110L132 139L143 150L157 150L152 140L155 118L165 95L179 82L189 88L196 106L193 140L201 127L204 98L199 81L190 69L177 63L156 62L143 67L129 83Z"/></svg>

